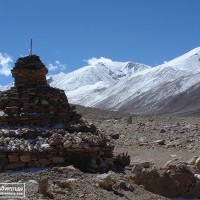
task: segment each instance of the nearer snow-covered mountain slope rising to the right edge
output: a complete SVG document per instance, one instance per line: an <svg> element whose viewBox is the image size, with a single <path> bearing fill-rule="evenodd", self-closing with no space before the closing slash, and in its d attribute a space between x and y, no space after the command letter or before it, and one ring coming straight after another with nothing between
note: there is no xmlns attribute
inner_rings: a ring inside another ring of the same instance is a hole
<svg viewBox="0 0 200 200"><path fill-rule="evenodd" d="M91 106L132 112L155 113L172 97L200 81L200 48L154 68L134 73L108 88ZM167 110L166 110L167 112Z"/></svg>

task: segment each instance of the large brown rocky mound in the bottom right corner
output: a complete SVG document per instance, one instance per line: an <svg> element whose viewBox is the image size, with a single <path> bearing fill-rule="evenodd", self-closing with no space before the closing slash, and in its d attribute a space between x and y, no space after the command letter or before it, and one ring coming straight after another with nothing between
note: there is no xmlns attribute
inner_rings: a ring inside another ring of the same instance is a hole
<svg viewBox="0 0 200 200"><path fill-rule="evenodd" d="M132 170L133 171L133 170ZM184 164L168 165L161 169L134 170L136 184L153 193L174 198L200 198L200 182Z"/></svg>

